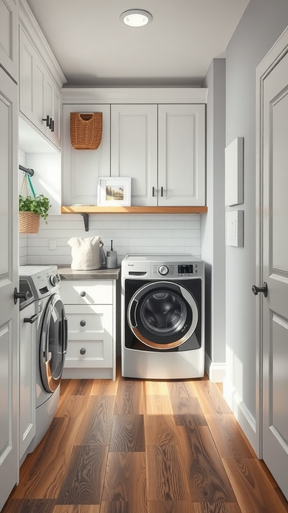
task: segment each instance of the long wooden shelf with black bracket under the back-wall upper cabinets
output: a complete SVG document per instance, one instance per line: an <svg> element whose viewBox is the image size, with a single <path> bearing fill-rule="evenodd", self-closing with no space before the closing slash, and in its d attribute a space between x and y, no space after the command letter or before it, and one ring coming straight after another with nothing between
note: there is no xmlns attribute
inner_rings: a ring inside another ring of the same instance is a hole
<svg viewBox="0 0 288 513"><path fill-rule="evenodd" d="M202 214L207 207L97 207L94 205L63 206L63 214L81 214L85 231L89 231L89 214Z"/></svg>

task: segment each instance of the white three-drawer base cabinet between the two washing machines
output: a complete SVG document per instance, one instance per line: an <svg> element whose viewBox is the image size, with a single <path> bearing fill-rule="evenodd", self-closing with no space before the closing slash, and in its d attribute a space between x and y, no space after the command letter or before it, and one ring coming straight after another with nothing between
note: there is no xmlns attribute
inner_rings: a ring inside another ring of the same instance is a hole
<svg viewBox="0 0 288 513"><path fill-rule="evenodd" d="M63 378L115 380L115 280L62 281L61 299L68 319Z"/></svg>

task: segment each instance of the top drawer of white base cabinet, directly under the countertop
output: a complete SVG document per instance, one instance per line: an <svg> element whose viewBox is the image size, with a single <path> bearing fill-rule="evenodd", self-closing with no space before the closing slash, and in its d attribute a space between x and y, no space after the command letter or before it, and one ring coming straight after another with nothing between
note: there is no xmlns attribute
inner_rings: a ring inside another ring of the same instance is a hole
<svg viewBox="0 0 288 513"><path fill-rule="evenodd" d="M112 305L112 280L73 280L61 282L61 299L65 305Z"/></svg>

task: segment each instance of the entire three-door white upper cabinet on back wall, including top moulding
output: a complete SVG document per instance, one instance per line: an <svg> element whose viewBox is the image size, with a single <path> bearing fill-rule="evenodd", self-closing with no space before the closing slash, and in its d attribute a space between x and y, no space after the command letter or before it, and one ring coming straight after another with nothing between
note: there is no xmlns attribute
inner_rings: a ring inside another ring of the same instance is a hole
<svg viewBox="0 0 288 513"><path fill-rule="evenodd" d="M63 205L96 206L99 176L131 176L131 206L204 206L206 102L202 88L63 89ZM73 111L103 112L97 150L72 148Z"/></svg>

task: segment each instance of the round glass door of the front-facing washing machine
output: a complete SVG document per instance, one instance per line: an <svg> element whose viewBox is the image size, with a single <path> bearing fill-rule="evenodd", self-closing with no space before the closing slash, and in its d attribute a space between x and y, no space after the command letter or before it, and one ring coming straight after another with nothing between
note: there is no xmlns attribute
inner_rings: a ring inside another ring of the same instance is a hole
<svg viewBox="0 0 288 513"><path fill-rule="evenodd" d="M134 293L128 323L138 340L157 349L186 342L195 331L198 308L191 292L173 282L154 282Z"/></svg>

